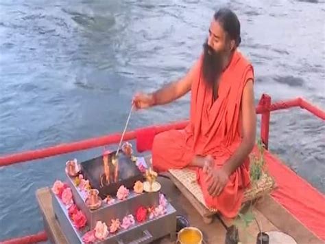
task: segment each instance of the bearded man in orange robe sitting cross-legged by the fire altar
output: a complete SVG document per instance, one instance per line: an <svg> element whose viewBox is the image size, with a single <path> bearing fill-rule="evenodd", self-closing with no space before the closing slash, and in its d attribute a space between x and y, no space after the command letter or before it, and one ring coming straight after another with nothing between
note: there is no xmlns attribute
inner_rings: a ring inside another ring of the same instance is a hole
<svg viewBox="0 0 325 244"><path fill-rule="evenodd" d="M236 14L220 9L202 55L186 76L154 93L138 93L132 101L144 109L191 91L188 126L156 135L152 162L158 171L194 167L206 206L228 218L238 214L250 184L248 155L256 136L254 72L237 49L240 43Z"/></svg>

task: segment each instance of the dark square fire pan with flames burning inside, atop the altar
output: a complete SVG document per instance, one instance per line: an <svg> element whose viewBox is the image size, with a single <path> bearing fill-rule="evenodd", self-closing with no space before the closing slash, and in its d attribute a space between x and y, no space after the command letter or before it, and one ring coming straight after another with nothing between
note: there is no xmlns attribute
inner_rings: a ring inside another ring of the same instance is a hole
<svg viewBox="0 0 325 244"><path fill-rule="evenodd" d="M99 196L104 199L108 195L116 195L118 188L123 185L133 188L138 180L144 177L136 164L132 161L130 154L119 151L105 153L80 164L82 173L89 180L92 188L99 191Z"/></svg>

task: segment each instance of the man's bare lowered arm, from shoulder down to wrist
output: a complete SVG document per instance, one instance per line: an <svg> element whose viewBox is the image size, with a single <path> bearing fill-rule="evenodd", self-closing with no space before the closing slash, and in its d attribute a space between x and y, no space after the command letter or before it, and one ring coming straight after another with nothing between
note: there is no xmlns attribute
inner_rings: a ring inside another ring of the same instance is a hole
<svg viewBox="0 0 325 244"><path fill-rule="evenodd" d="M256 112L254 106L254 88L253 80L248 80L241 98L241 114L243 120L243 140L239 148L227 160L223 170L228 177L236 170L250 152L252 151L256 140Z"/></svg>

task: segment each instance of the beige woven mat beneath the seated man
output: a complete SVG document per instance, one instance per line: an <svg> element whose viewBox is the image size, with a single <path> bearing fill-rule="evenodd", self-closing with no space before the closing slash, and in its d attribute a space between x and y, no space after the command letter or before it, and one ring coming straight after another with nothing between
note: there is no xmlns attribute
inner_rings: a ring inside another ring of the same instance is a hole
<svg viewBox="0 0 325 244"><path fill-rule="evenodd" d="M202 190L199 184L197 184L195 171L184 168L181 170L169 170L169 173L173 175L173 177L178 179L178 181L180 181L182 185L187 190L189 190L189 192L191 192L191 194L197 199L197 201L202 203L202 205L207 210L209 210L210 212L217 212L217 209L208 208L208 206L206 206ZM272 177L269 177L266 174L262 175L261 179L252 183L251 188L245 190L243 203L245 203L246 201L252 201L254 199L262 197L263 195L268 194L272 191L272 189L274 189L274 187L274 179L272 179Z"/></svg>

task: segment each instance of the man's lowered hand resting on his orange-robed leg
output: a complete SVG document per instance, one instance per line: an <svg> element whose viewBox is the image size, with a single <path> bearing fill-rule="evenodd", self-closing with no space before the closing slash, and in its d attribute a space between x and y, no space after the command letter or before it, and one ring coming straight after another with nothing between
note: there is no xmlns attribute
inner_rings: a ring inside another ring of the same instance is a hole
<svg viewBox="0 0 325 244"><path fill-rule="evenodd" d="M228 175L222 168L213 168L206 175L209 182L208 193L212 196L219 196L228 182Z"/></svg>

